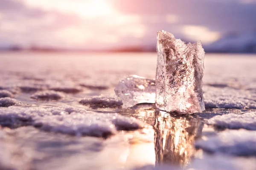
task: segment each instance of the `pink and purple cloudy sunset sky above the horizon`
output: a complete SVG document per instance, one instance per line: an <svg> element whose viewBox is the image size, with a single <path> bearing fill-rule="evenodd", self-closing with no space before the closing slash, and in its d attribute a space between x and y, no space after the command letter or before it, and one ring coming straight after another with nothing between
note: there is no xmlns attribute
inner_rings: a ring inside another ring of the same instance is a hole
<svg viewBox="0 0 256 170"><path fill-rule="evenodd" d="M256 31L256 0L0 0L0 46L151 47L166 30L210 44Z"/></svg>

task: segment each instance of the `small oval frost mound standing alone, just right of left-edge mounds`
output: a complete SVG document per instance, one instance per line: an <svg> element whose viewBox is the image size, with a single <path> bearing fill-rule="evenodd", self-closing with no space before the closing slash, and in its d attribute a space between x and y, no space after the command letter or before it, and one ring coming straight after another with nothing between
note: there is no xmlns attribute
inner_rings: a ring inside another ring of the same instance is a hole
<svg viewBox="0 0 256 170"><path fill-rule="evenodd" d="M30 98L39 100L59 100L64 98L65 95L62 92L56 92L53 90L45 90L41 92L35 92Z"/></svg>

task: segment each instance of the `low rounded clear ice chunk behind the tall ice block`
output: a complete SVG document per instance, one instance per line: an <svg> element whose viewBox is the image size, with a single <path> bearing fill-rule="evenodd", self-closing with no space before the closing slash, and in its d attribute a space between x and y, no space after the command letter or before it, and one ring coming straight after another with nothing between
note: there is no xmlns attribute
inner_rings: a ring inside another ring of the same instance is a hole
<svg viewBox="0 0 256 170"><path fill-rule="evenodd" d="M137 75L130 75L119 81L115 88L123 107L132 107L140 103L155 103L155 81Z"/></svg>

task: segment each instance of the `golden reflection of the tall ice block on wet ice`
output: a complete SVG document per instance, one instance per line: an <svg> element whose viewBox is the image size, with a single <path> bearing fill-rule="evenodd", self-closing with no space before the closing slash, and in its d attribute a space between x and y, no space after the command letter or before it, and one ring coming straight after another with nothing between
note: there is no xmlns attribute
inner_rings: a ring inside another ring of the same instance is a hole
<svg viewBox="0 0 256 170"><path fill-rule="evenodd" d="M156 111L155 124L156 164L186 166L195 154L195 138L201 136L201 119L175 117L167 112Z"/></svg>

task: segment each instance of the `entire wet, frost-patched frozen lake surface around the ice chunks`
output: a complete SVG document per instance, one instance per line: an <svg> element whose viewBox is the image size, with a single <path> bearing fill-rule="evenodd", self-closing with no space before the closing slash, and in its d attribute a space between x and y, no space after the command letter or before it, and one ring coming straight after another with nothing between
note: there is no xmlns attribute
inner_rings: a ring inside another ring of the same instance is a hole
<svg viewBox="0 0 256 170"><path fill-rule="evenodd" d="M1 170L256 166L255 56L206 55L206 111L170 115L115 97L127 75L155 78L156 53L0 55Z"/></svg>

